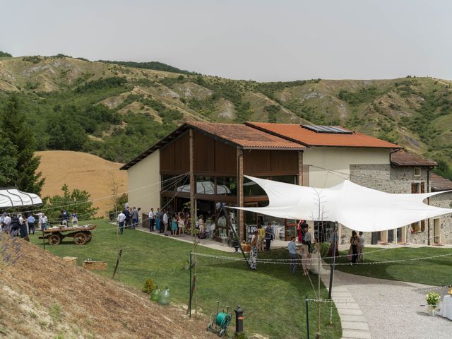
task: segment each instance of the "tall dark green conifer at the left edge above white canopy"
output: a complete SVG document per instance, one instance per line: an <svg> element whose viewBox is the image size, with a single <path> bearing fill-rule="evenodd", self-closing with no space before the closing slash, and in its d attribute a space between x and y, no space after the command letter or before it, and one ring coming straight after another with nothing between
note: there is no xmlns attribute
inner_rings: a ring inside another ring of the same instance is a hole
<svg viewBox="0 0 452 339"><path fill-rule="evenodd" d="M8 154L16 159L16 171L10 173L13 175L10 182L22 191L40 194L44 179L41 178L41 172L37 172L40 157L35 156L35 136L32 129L25 125L25 116L19 108L18 98L12 95L2 109L3 112L0 112L4 139L11 143L9 146L4 143L4 147L13 151Z"/></svg>

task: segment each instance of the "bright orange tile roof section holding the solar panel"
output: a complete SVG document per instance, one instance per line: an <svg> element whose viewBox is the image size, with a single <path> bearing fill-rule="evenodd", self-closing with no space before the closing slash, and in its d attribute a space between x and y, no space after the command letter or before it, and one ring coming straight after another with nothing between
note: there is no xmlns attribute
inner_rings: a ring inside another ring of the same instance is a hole
<svg viewBox="0 0 452 339"><path fill-rule="evenodd" d="M400 148L400 146L395 143L388 143L388 141L383 141L374 138L373 136L367 136L366 134L357 132L352 132L350 134L316 133L299 124L246 122L246 125L307 146Z"/></svg>

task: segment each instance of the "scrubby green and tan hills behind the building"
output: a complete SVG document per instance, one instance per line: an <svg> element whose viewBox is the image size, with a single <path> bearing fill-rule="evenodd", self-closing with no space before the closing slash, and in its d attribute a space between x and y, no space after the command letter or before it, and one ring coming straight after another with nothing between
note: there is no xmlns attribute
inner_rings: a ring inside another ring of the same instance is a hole
<svg viewBox="0 0 452 339"><path fill-rule="evenodd" d="M451 81L408 76L258 83L159 67L61 55L4 57L0 100L20 97L41 150L83 150L117 162L182 121L253 120L340 124L452 163Z"/></svg>

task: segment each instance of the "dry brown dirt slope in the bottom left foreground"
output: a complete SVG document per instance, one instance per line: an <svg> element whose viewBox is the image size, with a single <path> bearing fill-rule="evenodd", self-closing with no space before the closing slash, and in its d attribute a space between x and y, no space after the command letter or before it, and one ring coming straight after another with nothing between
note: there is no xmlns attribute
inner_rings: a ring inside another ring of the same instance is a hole
<svg viewBox="0 0 452 339"><path fill-rule="evenodd" d="M0 338L213 338L206 319L20 243L23 256L0 263Z"/></svg>

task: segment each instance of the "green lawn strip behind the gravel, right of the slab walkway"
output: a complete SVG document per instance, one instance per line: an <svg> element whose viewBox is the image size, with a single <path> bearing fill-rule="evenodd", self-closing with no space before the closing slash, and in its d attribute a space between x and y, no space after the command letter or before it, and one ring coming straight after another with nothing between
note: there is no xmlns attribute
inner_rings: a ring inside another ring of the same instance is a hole
<svg viewBox="0 0 452 339"><path fill-rule="evenodd" d="M376 251L376 248L367 248L364 251L365 262L393 261L408 258L422 258L452 254L452 249L441 249L436 247L420 247L417 249L410 247L399 247L379 251L375 254L366 252ZM341 255L347 254L341 251ZM338 258L337 263L348 263L347 258ZM452 255L441 258L426 260L403 261L400 263L379 263L375 265L338 265L336 269L343 272L366 275L373 278L388 280L399 280L410 283L420 283L426 285L449 285L452 283Z"/></svg>

